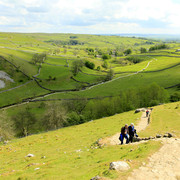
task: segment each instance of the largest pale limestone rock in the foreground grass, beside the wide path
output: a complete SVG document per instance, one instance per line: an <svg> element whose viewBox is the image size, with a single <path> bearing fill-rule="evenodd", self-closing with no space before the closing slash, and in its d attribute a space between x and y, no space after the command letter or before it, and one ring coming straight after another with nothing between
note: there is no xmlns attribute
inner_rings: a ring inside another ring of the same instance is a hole
<svg viewBox="0 0 180 180"><path fill-rule="evenodd" d="M111 162L109 169L116 171L127 171L128 169L130 169L130 166L128 163L124 161L117 161L117 162Z"/></svg>

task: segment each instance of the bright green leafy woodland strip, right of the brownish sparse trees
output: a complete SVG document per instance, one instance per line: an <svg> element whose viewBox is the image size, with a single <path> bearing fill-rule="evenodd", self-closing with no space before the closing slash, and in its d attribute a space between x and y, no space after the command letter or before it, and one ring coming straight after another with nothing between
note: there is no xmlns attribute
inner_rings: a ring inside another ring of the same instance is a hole
<svg viewBox="0 0 180 180"><path fill-rule="evenodd" d="M155 106L168 101L166 90L157 84L151 84L139 89L120 92L118 96L95 99L87 102L86 99L66 101L68 118L65 126L81 124L92 119L98 119L130 111L140 107ZM71 106L67 104L71 104ZM73 106L73 107L72 107Z"/></svg>

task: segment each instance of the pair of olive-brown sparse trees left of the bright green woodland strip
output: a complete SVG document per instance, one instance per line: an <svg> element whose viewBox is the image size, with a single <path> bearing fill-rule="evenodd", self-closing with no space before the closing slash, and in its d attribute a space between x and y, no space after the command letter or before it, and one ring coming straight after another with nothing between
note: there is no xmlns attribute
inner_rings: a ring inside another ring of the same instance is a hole
<svg viewBox="0 0 180 180"><path fill-rule="evenodd" d="M37 118L32 108L25 108L11 118L15 135L18 137L28 136L34 133L55 130L64 127L67 120L67 112L61 104L46 105L42 103L39 108L45 108L42 118Z"/></svg>

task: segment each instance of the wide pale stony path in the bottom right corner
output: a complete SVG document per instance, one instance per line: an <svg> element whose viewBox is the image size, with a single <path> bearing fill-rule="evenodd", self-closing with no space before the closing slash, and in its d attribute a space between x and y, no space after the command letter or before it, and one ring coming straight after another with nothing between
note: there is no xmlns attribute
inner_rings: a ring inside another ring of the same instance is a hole
<svg viewBox="0 0 180 180"><path fill-rule="evenodd" d="M132 172L128 180L180 180L180 139L164 138L162 148L149 163Z"/></svg>

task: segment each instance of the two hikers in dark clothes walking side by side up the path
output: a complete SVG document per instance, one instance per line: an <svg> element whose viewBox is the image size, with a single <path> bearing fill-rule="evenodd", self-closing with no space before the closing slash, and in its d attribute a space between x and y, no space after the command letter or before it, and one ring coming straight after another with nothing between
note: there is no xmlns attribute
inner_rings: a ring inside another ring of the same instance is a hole
<svg viewBox="0 0 180 180"><path fill-rule="evenodd" d="M123 144L124 138L126 139L126 144L128 144L129 142L132 143L134 136L138 137L138 135L136 134L136 129L134 128L134 124L131 123L130 126L126 124L121 128L119 140L121 141L121 144Z"/></svg>

